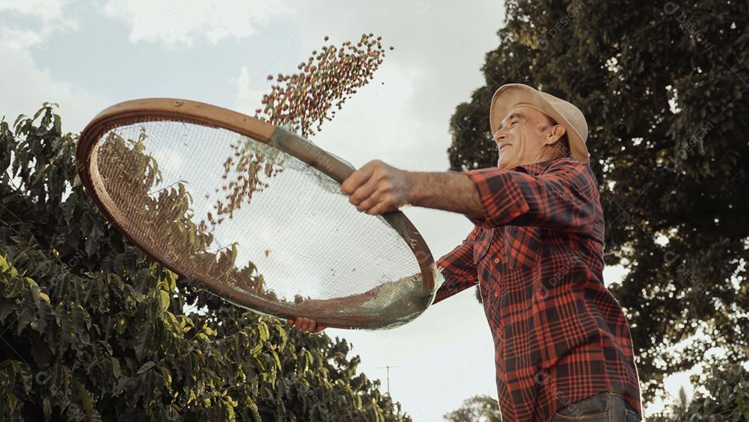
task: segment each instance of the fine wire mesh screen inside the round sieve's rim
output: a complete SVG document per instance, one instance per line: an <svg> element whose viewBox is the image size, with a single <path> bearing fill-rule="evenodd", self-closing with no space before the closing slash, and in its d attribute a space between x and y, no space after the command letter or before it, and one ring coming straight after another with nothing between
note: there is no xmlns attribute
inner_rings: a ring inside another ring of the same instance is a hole
<svg viewBox="0 0 749 422"><path fill-rule="evenodd" d="M383 217L272 145L187 121L120 121L88 158L95 194L132 241L258 313L392 328L432 291Z"/></svg>

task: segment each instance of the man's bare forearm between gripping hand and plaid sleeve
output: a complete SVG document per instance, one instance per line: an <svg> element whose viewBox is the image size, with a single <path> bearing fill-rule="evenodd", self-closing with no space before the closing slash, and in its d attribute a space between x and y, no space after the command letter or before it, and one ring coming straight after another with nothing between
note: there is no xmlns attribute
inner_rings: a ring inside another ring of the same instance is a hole
<svg viewBox="0 0 749 422"><path fill-rule="evenodd" d="M409 172L410 205L484 217L476 184L459 172Z"/></svg>

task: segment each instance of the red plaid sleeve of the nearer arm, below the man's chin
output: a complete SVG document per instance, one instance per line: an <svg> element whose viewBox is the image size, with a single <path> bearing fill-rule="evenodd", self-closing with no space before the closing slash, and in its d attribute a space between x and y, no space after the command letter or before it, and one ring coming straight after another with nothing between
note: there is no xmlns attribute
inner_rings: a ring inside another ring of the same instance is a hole
<svg viewBox="0 0 749 422"><path fill-rule="evenodd" d="M541 175L498 168L463 174L479 190L484 215L468 217L476 226L539 226L578 233L592 230L598 184L588 163L560 160Z"/></svg>

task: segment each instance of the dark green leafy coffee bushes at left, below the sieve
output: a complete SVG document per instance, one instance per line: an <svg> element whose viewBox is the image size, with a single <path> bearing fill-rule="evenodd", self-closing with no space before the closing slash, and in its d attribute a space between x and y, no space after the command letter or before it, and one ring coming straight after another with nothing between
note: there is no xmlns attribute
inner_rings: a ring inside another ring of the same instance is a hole
<svg viewBox="0 0 749 422"><path fill-rule="evenodd" d="M125 241L74 148L51 105L0 122L0 421L410 421L345 340L225 304Z"/></svg>

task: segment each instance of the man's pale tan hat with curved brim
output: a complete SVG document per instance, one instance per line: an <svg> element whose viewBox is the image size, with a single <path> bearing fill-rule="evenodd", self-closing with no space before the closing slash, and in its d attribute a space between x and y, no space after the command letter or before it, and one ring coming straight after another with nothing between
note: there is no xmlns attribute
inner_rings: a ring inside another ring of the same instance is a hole
<svg viewBox="0 0 749 422"><path fill-rule="evenodd" d="M571 124L556 107L549 103L541 92L521 83L502 85L496 92L494 92L494 97L491 99L491 107L489 109L489 125L491 126L492 135L497 133L497 127L499 127L502 119L517 106L528 106L536 109L564 126L567 130L571 156L575 160L582 161L583 163L589 162L588 148L585 145L585 139L583 139L583 136L574 128L574 125Z"/></svg>

